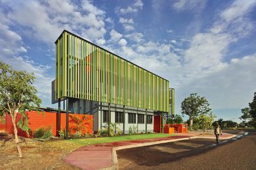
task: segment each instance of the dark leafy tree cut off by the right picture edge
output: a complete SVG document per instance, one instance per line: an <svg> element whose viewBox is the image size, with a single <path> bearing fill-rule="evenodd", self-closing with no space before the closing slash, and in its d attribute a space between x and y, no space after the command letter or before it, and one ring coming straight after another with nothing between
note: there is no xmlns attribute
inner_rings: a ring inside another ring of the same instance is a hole
<svg viewBox="0 0 256 170"><path fill-rule="evenodd" d="M253 101L249 103L249 107L245 107L241 111L243 115L240 119L249 120L248 123L256 129L256 92L254 92Z"/></svg>

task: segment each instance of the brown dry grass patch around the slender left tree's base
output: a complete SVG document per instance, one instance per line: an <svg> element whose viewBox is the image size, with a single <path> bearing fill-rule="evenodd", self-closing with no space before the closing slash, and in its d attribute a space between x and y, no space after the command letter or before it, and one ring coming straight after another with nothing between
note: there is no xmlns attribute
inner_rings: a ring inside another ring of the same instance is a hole
<svg viewBox="0 0 256 170"><path fill-rule="evenodd" d="M18 158L14 137L6 134L0 134L0 169L76 169L62 161L72 146L60 148L22 138L20 147L23 157Z"/></svg>

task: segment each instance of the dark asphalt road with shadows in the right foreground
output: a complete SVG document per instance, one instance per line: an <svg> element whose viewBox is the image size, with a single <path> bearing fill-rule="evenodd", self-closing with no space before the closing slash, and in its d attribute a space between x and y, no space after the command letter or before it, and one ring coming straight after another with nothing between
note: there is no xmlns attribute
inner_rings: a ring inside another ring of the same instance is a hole
<svg viewBox="0 0 256 170"><path fill-rule="evenodd" d="M219 146L191 139L117 151L119 169L256 169L256 132Z"/></svg>

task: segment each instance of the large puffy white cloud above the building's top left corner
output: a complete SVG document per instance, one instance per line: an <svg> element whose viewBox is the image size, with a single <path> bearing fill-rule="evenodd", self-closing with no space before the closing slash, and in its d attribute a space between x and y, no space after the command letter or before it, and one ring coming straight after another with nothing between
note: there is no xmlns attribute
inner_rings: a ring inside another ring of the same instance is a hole
<svg viewBox="0 0 256 170"><path fill-rule="evenodd" d="M53 43L63 29L83 35L91 41L104 39L105 12L91 1L75 5L71 1L6 1L7 17L30 30L30 36ZM28 32L28 31L27 31Z"/></svg>

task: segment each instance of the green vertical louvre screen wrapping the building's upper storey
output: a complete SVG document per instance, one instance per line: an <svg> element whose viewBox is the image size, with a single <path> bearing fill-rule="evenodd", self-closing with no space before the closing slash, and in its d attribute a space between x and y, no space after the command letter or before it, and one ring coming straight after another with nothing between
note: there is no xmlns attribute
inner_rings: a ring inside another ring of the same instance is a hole
<svg viewBox="0 0 256 170"><path fill-rule="evenodd" d="M56 44L55 98L169 112L169 81L68 31Z"/></svg>

